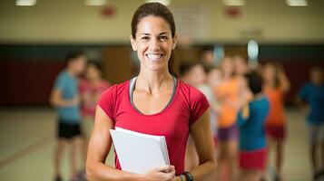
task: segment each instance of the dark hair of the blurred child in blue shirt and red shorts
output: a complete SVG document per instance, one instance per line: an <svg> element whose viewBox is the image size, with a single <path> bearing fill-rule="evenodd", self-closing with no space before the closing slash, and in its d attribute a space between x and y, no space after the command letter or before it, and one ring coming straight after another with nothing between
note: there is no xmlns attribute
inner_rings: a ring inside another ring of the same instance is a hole
<svg viewBox="0 0 324 181"><path fill-rule="evenodd" d="M256 71L250 71L248 73L245 73L244 77L253 94L257 94L262 91L263 80Z"/></svg>

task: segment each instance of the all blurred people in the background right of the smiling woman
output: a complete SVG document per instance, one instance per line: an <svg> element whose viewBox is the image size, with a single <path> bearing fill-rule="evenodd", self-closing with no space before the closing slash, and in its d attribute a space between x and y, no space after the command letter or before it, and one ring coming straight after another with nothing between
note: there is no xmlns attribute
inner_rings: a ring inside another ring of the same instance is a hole
<svg viewBox="0 0 324 181"><path fill-rule="evenodd" d="M226 56L218 66L203 61L185 62L180 73L182 81L201 90L211 105L211 130L219 163L211 180L266 180L271 153L275 156L273 180L281 180L287 136L284 98L290 90L282 65L266 62L250 70L242 57ZM323 143L323 71L319 67L311 69L310 80L296 97L300 110L309 111L310 152L316 180L324 176L319 167L323 163L317 163L317 151ZM188 170L197 165L194 149L189 139Z"/></svg>

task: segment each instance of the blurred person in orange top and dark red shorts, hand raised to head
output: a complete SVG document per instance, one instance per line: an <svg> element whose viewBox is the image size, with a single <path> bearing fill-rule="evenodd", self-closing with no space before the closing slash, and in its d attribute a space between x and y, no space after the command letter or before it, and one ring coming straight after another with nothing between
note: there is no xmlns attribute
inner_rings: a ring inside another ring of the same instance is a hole
<svg viewBox="0 0 324 181"><path fill-rule="evenodd" d="M270 112L266 121L269 154L275 151L275 180L281 180L284 160L286 118L284 97L290 90L290 81L279 64L266 63L263 67L264 91L270 101Z"/></svg>

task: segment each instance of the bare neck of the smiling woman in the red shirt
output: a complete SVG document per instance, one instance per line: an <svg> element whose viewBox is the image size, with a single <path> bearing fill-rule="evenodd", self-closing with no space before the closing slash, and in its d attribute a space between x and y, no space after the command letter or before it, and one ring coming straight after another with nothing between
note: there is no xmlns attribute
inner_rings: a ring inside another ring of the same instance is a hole
<svg viewBox="0 0 324 181"><path fill-rule="evenodd" d="M152 93L169 90L170 85L172 85L172 75L169 71L140 71L135 87Z"/></svg>

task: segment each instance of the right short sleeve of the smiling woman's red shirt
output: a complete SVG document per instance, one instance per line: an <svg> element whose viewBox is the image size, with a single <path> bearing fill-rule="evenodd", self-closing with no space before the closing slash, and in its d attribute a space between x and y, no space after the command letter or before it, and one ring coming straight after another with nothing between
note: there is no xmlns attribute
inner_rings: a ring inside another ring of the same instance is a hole
<svg viewBox="0 0 324 181"><path fill-rule="evenodd" d="M190 109L191 119L189 124L192 125L196 122L201 115L210 108L210 104L203 93L200 90L190 87Z"/></svg>

